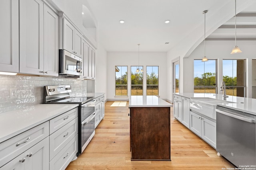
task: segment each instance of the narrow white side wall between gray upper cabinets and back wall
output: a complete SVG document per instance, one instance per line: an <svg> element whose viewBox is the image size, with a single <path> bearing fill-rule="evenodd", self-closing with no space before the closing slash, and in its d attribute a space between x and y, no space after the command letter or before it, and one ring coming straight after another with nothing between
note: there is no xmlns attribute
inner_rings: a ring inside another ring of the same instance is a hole
<svg viewBox="0 0 256 170"><path fill-rule="evenodd" d="M96 50L95 62L95 92L103 92L105 93L105 96L107 96L107 51L100 43L98 43L98 49Z"/></svg>

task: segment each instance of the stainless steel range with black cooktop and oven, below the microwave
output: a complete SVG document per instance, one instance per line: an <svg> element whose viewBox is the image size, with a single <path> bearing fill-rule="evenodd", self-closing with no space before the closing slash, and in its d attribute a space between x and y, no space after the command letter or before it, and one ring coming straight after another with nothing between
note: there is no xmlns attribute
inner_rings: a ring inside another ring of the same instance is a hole
<svg viewBox="0 0 256 170"><path fill-rule="evenodd" d="M70 97L70 85L44 86L45 104L79 104L78 106L78 153L80 155L95 134L94 97Z"/></svg>

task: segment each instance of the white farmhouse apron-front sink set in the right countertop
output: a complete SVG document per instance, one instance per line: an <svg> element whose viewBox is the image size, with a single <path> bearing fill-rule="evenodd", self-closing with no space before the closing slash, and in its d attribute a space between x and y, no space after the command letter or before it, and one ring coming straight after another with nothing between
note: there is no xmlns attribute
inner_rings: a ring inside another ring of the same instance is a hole
<svg viewBox="0 0 256 170"><path fill-rule="evenodd" d="M220 103L234 103L213 98L191 98L190 110L216 120L216 106Z"/></svg>

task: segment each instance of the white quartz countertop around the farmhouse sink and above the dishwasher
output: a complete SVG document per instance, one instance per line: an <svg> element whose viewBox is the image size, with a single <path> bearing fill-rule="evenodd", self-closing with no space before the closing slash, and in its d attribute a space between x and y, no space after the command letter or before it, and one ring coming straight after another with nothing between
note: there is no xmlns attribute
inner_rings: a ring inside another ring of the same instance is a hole
<svg viewBox="0 0 256 170"><path fill-rule="evenodd" d="M218 100L223 100L222 94L210 94L210 93L175 93L178 96L183 96L186 98L190 98L196 100L196 98L214 98ZM234 109L238 111L242 111L245 113L249 113L252 115L256 115L256 99L253 98L243 98L237 96L228 96L226 101L217 103L217 106L226 107L229 109Z"/></svg>

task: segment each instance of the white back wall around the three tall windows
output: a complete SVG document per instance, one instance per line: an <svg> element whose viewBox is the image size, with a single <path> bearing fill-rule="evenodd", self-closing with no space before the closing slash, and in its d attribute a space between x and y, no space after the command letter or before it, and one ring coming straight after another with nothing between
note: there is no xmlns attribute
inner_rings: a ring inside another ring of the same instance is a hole
<svg viewBox="0 0 256 170"><path fill-rule="evenodd" d="M166 99L167 53L140 52L140 65L143 65L143 88L146 84L146 66L159 66L159 96ZM138 65L138 52L108 52L107 68L107 98L108 100L128 100L128 97L115 96L115 66L128 66L128 95L130 92L130 69ZM143 64L142 64L143 63Z"/></svg>

